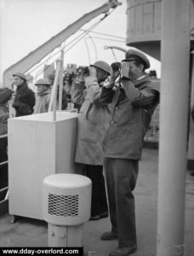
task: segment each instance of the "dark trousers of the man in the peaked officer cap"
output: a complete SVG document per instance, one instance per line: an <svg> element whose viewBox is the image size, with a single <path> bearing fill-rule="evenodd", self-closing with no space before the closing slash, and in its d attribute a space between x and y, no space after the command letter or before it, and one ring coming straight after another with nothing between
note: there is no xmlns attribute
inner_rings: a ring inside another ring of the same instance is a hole
<svg viewBox="0 0 194 256"><path fill-rule="evenodd" d="M105 158L105 173L111 231L117 233L118 247L137 244L133 190L139 160Z"/></svg>

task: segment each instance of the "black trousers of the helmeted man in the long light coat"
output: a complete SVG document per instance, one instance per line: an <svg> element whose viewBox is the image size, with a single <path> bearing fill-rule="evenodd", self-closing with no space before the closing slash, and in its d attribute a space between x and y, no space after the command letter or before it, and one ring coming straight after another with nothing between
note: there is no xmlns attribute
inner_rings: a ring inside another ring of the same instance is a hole
<svg viewBox="0 0 194 256"><path fill-rule="evenodd" d="M92 181L91 216L108 212L103 166L85 165L85 172Z"/></svg>

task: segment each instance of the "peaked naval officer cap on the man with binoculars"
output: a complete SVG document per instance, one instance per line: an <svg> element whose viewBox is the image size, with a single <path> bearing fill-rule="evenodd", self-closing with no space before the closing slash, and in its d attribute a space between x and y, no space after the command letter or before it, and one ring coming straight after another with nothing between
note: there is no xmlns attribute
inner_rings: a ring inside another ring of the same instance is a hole
<svg viewBox="0 0 194 256"><path fill-rule="evenodd" d="M150 61L147 57L137 49L128 49L125 54L125 59L123 61L143 61L145 69L151 67Z"/></svg>

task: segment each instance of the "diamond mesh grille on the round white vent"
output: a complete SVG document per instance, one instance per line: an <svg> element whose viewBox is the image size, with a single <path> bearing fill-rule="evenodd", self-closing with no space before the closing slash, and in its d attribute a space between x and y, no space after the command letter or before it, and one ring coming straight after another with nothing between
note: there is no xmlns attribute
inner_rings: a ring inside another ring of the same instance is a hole
<svg viewBox="0 0 194 256"><path fill-rule="evenodd" d="M78 215L79 195L48 194L48 213L55 216L75 217Z"/></svg>

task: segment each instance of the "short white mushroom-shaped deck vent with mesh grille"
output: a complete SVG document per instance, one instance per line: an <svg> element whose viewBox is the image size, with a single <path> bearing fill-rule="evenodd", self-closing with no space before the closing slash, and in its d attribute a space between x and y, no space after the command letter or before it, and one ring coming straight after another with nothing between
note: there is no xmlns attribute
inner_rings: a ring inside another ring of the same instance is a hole
<svg viewBox="0 0 194 256"><path fill-rule="evenodd" d="M83 247L83 227L90 218L92 182L88 177L57 173L43 179L43 218L48 247Z"/></svg>

